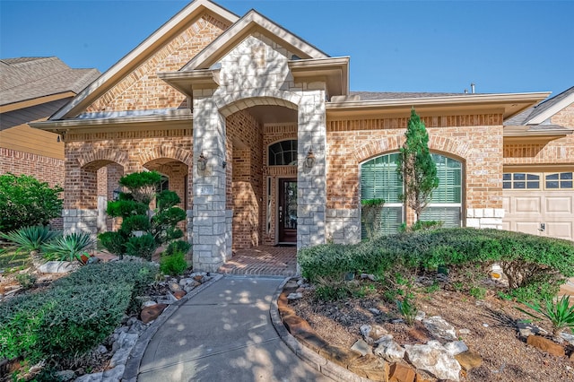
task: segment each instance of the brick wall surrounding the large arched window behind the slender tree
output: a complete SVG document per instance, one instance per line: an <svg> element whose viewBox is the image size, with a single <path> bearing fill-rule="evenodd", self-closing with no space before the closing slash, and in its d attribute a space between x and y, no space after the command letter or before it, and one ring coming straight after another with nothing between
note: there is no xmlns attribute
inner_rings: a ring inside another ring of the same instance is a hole
<svg viewBox="0 0 574 382"><path fill-rule="evenodd" d="M327 120L327 210L360 205L363 161L397 152L408 118ZM466 208L502 208L502 116L422 117L431 152L461 161ZM483 124L482 126L472 126ZM413 221L413 212L407 213Z"/></svg>

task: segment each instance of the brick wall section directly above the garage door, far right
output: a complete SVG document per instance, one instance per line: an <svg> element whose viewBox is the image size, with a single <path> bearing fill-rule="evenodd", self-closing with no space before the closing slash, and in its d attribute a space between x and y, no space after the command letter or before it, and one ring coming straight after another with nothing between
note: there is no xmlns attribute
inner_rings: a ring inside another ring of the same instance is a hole
<svg viewBox="0 0 574 382"><path fill-rule="evenodd" d="M562 109L551 118L554 125L574 127L574 104ZM505 165L572 164L574 159L574 135L550 142L505 143Z"/></svg>

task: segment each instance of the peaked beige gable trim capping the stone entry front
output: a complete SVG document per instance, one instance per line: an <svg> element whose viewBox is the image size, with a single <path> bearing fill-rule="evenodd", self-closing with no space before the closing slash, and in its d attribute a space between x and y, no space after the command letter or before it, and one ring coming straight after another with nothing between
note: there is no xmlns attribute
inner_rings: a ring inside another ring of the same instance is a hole
<svg viewBox="0 0 574 382"><path fill-rule="evenodd" d="M245 39L253 30L262 32L270 39L281 41L283 48L296 54L298 59L329 57L325 52L309 44L309 42L300 39L291 31L284 29L281 25L272 22L261 13L252 9L241 17L238 22L231 25L228 30L225 30L217 39L214 39L211 44L199 52L179 71L189 72L196 69L208 69L241 40ZM288 58L291 59L291 57Z"/></svg>

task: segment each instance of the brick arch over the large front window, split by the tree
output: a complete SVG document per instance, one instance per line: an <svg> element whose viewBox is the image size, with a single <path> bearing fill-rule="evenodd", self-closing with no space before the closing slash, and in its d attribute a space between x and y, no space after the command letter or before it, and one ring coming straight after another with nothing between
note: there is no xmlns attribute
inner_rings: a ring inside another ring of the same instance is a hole
<svg viewBox="0 0 574 382"><path fill-rule="evenodd" d="M397 152L404 143L404 135L387 136L375 141L370 141L356 149L353 153L357 162L370 160L385 152ZM465 160L470 149L469 143L457 141L443 136L433 135L429 137L431 152L443 152Z"/></svg>

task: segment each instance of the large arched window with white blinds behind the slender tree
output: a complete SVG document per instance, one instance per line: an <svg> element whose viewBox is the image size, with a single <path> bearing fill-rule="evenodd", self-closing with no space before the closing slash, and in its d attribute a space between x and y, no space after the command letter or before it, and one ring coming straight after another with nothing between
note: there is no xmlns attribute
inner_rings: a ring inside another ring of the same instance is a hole
<svg viewBox="0 0 574 382"><path fill-rule="evenodd" d="M404 222L404 205L399 200L403 183L396 171L398 153L373 158L361 165L361 200L385 200L378 216L379 231L396 233ZM462 209L462 164L452 158L431 154L437 165L439 187L422 212L422 221L443 221L443 227L460 227ZM364 231L364 230L363 230Z"/></svg>

